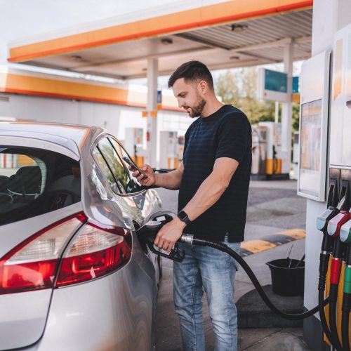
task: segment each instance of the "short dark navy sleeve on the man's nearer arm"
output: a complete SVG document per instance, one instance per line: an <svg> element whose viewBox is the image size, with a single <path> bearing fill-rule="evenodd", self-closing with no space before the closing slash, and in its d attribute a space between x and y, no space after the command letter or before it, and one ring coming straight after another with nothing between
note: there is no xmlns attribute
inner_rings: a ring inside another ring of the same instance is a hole
<svg viewBox="0 0 351 351"><path fill-rule="evenodd" d="M216 159L230 157L243 161L251 140L251 125L246 115L240 112L227 114L218 127Z"/></svg>

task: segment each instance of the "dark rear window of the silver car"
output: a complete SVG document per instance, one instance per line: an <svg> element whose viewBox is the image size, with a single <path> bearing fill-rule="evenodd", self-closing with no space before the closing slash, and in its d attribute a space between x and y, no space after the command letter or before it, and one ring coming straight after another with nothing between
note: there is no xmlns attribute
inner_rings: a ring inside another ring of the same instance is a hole
<svg viewBox="0 0 351 351"><path fill-rule="evenodd" d="M0 225L78 201L78 161L49 150L0 145Z"/></svg>

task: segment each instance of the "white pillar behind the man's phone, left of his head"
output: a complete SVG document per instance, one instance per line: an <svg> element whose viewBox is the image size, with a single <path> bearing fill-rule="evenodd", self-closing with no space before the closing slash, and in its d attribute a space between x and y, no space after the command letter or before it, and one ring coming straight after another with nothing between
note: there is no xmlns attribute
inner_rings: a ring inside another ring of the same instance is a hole
<svg viewBox="0 0 351 351"><path fill-rule="evenodd" d="M157 117L151 117L152 111L157 111L157 76L158 60L147 60L147 152L150 155L150 166L156 167L157 153Z"/></svg>

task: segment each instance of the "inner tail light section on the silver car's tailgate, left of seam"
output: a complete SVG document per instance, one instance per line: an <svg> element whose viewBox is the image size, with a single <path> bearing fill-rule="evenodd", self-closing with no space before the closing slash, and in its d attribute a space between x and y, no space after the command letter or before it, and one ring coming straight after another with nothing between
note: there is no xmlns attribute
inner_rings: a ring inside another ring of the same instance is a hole
<svg viewBox="0 0 351 351"><path fill-rule="evenodd" d="M86 220L77 213L32 235L0 260L0 294L53 287L62 251Z"/></svg>

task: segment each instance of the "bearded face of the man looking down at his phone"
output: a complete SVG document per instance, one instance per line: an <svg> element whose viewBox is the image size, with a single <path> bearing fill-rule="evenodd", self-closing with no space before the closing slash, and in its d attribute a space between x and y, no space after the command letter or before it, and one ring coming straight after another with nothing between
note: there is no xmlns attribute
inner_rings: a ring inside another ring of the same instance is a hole
<svg viewBox="0 0 351 351"><path fill-rule="evenodd" d="M180 78L174 82L172 89L180 108L183 107L192 118L201 116L206 101L199 93L198 84L191 81L185 83L184 78Z"/></svg>

